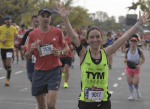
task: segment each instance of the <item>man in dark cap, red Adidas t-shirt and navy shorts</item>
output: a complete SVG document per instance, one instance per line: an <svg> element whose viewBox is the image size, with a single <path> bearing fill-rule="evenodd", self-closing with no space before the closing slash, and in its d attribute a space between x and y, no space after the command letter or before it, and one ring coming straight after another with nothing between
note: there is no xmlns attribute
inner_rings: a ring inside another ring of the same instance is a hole
<svg viewBox="0 0 150 109"><path fill-rule="evenodd" d="M66 54L69 47L63 40L62 31L49 25L49 9L41 9L38 19L39 28L29 33L24 46L27 60L31 59L33 53L36 57L32 95L37 98L39 109L46 109L46 101L48 109L55 109L62 74L60 56ZM64 48L59 50L59 47Z"/></svg>

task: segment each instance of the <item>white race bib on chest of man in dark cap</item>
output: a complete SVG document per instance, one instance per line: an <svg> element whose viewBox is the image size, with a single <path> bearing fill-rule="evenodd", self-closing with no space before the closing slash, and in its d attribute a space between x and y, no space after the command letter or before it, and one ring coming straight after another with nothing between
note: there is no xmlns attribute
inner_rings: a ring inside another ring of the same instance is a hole
<svg viewBox="0 0 150 109"><path fill-rule="evenodd" d="M44 46L38 46L39 56L46 56L52 54L53 45L46 44Z"/></svg>

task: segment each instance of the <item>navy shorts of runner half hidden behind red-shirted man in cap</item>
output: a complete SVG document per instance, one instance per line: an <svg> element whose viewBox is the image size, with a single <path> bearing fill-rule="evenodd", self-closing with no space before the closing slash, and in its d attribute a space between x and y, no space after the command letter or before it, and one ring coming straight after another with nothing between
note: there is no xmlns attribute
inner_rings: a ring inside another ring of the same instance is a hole
<svg viewBox="0 0 150 109"><path fill-rule="evenodd" d="M27 76L30 81L32 81L33 72L34 72L34 63L32 63L32 60L27 60Z"/></svg>

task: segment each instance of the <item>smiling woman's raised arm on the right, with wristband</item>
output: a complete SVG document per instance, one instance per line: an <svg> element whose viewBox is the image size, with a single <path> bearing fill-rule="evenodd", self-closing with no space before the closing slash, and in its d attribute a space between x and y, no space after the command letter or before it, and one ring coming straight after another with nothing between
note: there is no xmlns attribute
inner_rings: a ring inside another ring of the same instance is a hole
<svg viewBox="0 0 150 109"><path fill-rule="evenodd" d="M138 26L142 26L144 23L150 21L148 17L149 14L146 12L146 10L144 11L143 16L141 16L141 12L139 12L139 21L136 23L136 25L126 31L123 36L121 36L117 41L115 41L114 44L112 44L112 46L105 48L107 56L110 56L116 52L121 47L121 45L139 29Z"/></svg>

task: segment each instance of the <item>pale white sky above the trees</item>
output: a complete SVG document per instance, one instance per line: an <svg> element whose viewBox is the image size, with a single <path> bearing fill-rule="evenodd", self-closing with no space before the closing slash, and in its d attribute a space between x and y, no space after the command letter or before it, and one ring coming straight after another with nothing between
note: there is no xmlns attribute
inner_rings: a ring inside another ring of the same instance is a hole
<svg viewBox="0 0 150 109"><path fill-rule="evenodd" d="M126 7L132 6L132 2L138 0L73 0L73 6L82 6L88 9L88 13L95 13L97 11L107 12L108 16L115 16L118 22L119 16L126 16L126 14L139 14L139 7L136 11L130 10Z"/></svg>

